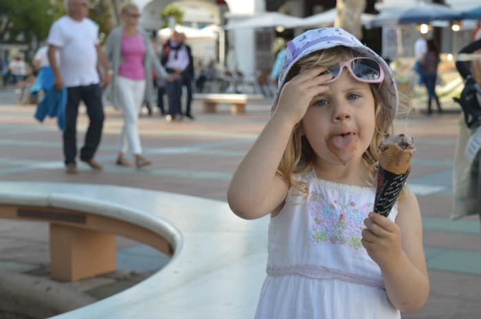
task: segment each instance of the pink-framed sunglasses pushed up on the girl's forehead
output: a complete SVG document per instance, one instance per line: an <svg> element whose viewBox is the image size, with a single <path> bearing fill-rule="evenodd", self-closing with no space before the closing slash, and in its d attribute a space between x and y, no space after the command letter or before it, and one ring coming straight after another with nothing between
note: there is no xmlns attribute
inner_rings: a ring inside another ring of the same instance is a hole
<svg viewBox="0 0 481 319"><path fill-rule="evenodd" d="M327 67L322 74L331 74L333 78L327 83L334 82L341 75L342 70L346 67L353 78L360 82L381 83L384 80L384 71L381 64L372 58L352 58L348 61L342 61Z"/></svg>

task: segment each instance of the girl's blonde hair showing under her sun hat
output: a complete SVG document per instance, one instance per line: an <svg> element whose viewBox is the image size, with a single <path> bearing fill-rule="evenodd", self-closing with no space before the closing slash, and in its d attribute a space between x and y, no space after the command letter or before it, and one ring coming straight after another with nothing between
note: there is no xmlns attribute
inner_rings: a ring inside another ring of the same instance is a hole
<svg viewBox="0 0 481 319"><path fill-rule="evenodd" d="M310 69L316 66L329 66L337 62L349 60L361 56L355 49L348 47L332 47L322 51L316 51L305 56L293 65L292 69L286 77L285 82L291 80L301 70ZM368 169L368 182L373 185L374 178L377 174L377 165L379 160L378 145L383 137L392 134L394 115L392 109L388 107L388 100L379 93L379 84L369 84L372 95L374 96L374 136L372 141L363 153L363 163ZM277 174L284 178L289 185L300 191L299 195L308 195L307 185L305 182L299 182L293 178L293 174L302 174L313 167L315 164L315 153L309 141L303 136L301 123L297 123L292 132L286 150L278 166Z"/></svg>

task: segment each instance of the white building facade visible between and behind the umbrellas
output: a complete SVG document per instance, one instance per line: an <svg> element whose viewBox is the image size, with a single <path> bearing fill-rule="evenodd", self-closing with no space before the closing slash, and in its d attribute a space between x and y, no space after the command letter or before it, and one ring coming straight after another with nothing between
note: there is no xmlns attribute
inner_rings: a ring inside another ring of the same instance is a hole
<svg viewBox="0 0 481 319"><path fill-rule="evenodd" d="M408 8L418 5L421 0L368 0L366 13L377 14L383 10L395 8ZM458 10L466 10L479 5L479 0L424 0L424 2L442 3L451 5ZM238 21L246 17L260 14L266 11L281 11L293 16L311 16L335 8L336 0L135 0L142 10L141 25L146 29L159 29L163 26L161 21L161 11L170 3L179 6L186 15L184 21L193 27L203 25L225 25L227 21ZM372 47L378 54L388 58L396 58L400 54L410 56L411 46L414 46L418 34L414 25L401 27L401 32L405 34L403 40L403 51L396 49L392 53L382 44L387 42L388 35L392 32L399 34L399 30L394 27L390 30L381 31L380 28L366 30L363 29L362 39L366 45ZM235 68L246 75L252 75L259 70L267 70L273 61L273 39L276 36L284 38L293 37L302 29L289 30L288 34L279 34L273 28L270 29L233 29L228 32L219 32L218 40L218 59L219 64L235 64ZM285 32L284 32L285 33ZM435 28L432 36L440 40L441 49L445 52L456 52L462 45L465 45L466 34L460 32L454 34L449 28Z"/></svg>

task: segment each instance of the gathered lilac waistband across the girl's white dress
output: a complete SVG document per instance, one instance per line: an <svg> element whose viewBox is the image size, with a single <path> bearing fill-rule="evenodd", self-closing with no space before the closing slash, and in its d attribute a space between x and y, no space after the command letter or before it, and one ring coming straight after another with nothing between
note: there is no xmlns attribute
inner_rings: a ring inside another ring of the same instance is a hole
<svg viewBox="0 0 481 319"><path fill-rule="evenodd" d="M285 276L289 274L298 274L313 279L338 279L349 281L350 283L359 283L385 290L384 281L379 277L363 276L361 274L352 274L342 272L341 270L327 268L322 265L289 265L289 266L267 266L267 274L269 276Z"/></svg>

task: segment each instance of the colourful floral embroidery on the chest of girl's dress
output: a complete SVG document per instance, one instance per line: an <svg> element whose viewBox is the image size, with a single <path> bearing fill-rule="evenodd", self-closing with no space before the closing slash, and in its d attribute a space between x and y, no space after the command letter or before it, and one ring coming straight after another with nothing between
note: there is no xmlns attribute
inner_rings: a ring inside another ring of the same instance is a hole
<svg viewBox="0 0 481 319"><path fill-rule="evenodd" d="M361 230L364 219L372 211L372 203L358 207L355 202L331 202L321 193L311 193L307 201L311 214L310 239L315 244L341 244L354 250L362 248Z"/></svg>

